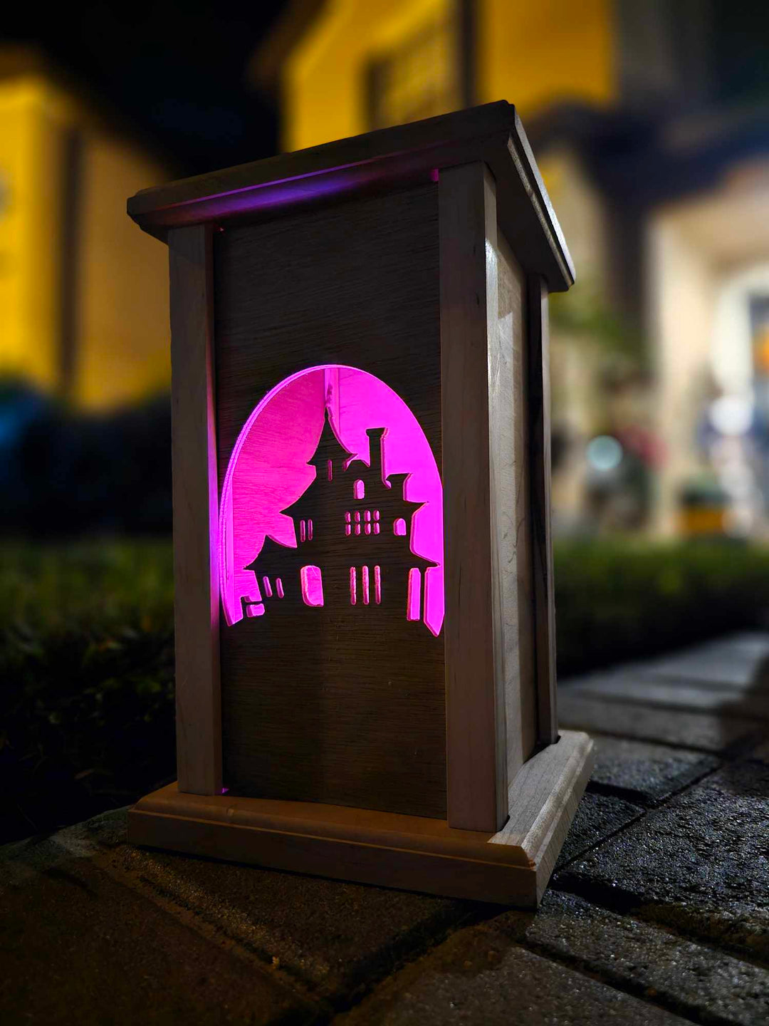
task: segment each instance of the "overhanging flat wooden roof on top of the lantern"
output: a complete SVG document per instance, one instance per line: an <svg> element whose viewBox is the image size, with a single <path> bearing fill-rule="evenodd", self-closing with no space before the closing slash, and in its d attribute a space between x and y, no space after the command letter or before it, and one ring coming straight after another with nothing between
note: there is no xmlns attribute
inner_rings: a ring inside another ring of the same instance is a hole
<svg viewBox="0 0 769 1026"><path fill-rule="evenodd" d="M332 194L428 182L436 168L472 161L496 179L499 222L524 269L544 275L551 291L569 288L571 256L520 118L504 101L143 190L128 213L165 238L174 226L272 218Z"/></svg>

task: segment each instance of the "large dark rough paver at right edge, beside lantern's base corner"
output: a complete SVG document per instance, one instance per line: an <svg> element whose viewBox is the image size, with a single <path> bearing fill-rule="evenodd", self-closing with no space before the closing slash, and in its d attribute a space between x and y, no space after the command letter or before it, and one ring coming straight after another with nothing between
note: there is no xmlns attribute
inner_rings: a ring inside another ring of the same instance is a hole
<svg viewBox="0 0 769 1026"><path fill-rule="evenodd" d="M769 961L769 766L725 766L556 879L601 904Z"/></svg>

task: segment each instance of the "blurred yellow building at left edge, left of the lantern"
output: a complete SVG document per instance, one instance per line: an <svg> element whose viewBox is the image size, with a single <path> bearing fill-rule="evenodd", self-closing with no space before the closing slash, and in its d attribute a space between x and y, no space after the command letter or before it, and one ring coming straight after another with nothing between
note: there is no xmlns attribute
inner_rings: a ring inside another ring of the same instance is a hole
<svg viewBox="0 0 769 1026"><path fill-rule="evenodd" d="M167 387L164 247L125 200L168 176L35 53L0 50L0 378L86 408Z"/></svg>

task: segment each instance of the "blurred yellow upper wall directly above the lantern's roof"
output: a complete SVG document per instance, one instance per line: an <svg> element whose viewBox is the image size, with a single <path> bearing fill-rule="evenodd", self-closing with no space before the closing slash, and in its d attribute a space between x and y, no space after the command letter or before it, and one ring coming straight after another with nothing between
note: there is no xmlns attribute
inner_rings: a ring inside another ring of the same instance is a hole
<svg viewBox="0 0 769 1026"><path fill-rule="evenodd" d="M367 131L371 63L406 46L431 24L456 18L458 7L454 0L329 0L284 68L282 148L297 150ZM611 101L610 8L610 0L478 0L477 102L509 100L525 117L559 100ZM458 81L459 46L453 53L443 44L439 49L429 64L434 89L445 94L438 80L450 73ZM456 67L447 72L447 62ZM424 66L414 69L401 87L418 93L424 74ZM461 102L457 93L456 106Z"/></svg>

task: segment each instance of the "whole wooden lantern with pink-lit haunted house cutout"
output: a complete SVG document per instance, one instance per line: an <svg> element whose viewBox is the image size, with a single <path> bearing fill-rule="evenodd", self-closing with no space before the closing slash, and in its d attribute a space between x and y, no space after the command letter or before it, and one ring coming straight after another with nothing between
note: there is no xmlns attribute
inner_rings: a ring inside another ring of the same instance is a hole
<svg viewBox="0 0 769 1026"><path fill-rule="evenodd" d="M513 107L144 191L170 251L178 781L130 839L535 905L558 734L548 293Z"/></svg>

